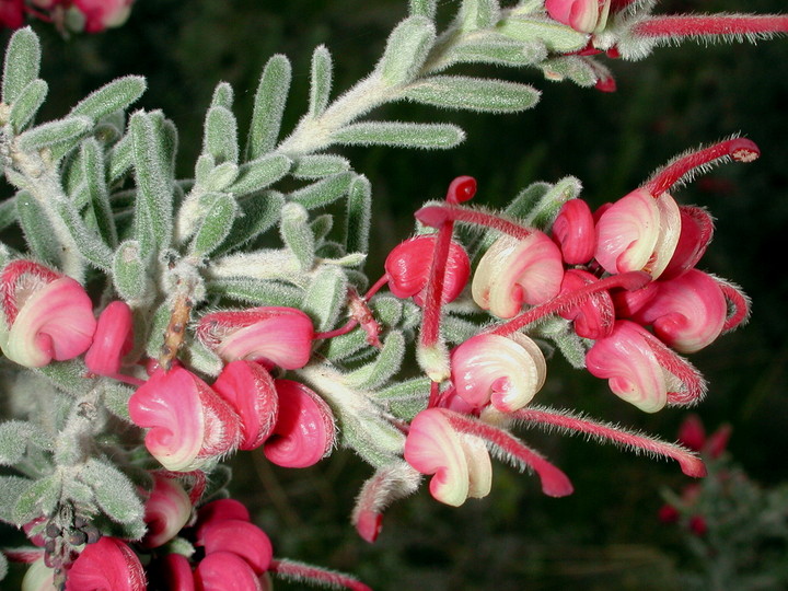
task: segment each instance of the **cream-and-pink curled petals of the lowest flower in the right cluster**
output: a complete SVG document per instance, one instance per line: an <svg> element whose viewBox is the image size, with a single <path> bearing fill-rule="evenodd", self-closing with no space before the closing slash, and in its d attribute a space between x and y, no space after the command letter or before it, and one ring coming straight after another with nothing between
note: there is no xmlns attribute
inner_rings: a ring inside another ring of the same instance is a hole
<svg viewBox="0 0 788 591"><path fill-rule="evenodd" d="M470 474L460 434L438 408L421 410L410 422L405 461L421 474L433 474L430 494L459 507L468 496Z"/></svg>

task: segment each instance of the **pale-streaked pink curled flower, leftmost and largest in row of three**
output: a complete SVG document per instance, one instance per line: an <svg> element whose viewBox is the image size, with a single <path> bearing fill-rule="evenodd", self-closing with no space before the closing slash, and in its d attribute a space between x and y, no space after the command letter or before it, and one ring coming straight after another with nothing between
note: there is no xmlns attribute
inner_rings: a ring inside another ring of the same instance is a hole
<svg viewBox="0 0 788 591"><path fill-rule="evenodd" d="M240 420L208 384L182 367L157 370L131 395L129 415L150 428L148 451L172 472L199 468L231 452L240 438Z"/></svg>

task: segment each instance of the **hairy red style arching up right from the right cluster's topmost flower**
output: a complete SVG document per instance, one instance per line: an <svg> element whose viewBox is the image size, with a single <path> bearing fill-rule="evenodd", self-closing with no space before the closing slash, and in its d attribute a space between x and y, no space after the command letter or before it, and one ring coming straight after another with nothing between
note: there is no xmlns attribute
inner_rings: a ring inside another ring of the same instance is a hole
<svg viewBox="0 0 788 591"><path fill-rule="evenodd" d="M720 141L708 148L690 152L669 162L663 169L644 185L648 193L659 197L667 190L692 176L698 169L715 164L723 159L732 159L737 162L752 162L761 155L761 150L746 138L732 138Z"/></svg>

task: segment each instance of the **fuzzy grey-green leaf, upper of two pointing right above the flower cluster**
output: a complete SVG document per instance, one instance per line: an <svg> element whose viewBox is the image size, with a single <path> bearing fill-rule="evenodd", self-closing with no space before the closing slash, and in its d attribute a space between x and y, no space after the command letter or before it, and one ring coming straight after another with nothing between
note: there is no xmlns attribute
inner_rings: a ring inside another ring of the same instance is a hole
<svg viewBox="0 0 788 591"><path fill-rule="evenodd" d="M540 92L528 84L460 76L420 80L403 93L405 99L447 108L517 113L533 107Z"/></svg>

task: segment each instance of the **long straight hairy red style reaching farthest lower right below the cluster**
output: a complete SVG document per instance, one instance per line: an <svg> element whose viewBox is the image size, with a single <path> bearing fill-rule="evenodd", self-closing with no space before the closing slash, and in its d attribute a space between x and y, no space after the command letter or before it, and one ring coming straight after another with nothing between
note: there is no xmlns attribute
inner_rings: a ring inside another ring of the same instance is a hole
<svg viewBox="0 0 788 591"><path fill-rule="evenodd" d="M558 427L561 430L589 434L600 441L610 441L636 453L642 450L650 454L672 457L679 462L682 472L687 476L695 478L706 476L706 466L703 461L695 453L675 443L660 441L611 424L589 420L564 410L532 406L517 410L513 416L526 425Z"/></svg>

